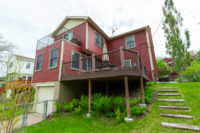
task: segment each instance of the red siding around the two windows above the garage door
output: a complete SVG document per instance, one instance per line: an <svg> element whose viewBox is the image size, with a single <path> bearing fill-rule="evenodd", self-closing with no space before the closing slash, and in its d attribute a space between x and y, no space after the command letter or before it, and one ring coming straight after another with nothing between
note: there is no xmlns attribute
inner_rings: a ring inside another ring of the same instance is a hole
<svg viewBox="0 0 200 133"><path fill-rule="evenodd" d="M57 67L49 69L50 52L51 50L55 48L59 48ZM58 80L59 67L60 67L60 53L61 53L61 40L57 41L56 43L52 45L44 47L36 52L36 56L35 56L36 60L35 60L33 80L32 80L33 83ZM42 69L36 72L35 66L37 62L37 56L40 54L43 54Z"/></svg>

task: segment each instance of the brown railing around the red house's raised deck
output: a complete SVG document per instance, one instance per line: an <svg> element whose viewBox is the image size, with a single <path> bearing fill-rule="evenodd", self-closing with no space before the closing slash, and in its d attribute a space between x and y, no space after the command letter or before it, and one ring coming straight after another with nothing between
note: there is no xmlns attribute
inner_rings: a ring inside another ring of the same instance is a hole
<svg viewBox="0 0 200 133"><path fill-rule="evenodd" d="M80 59L63 62L62 67L62 76L73 76L112 69L137 69L145 75L148 74L138 52L124 49L123 47L100 55L80 56Z"/></svg>

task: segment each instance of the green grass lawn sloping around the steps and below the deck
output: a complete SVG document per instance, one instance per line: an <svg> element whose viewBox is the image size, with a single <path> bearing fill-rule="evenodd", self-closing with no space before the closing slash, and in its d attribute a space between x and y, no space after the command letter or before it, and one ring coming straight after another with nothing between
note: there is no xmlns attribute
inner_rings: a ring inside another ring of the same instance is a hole
<svg viewBox="0 0 200 133"><path fill-rule="evenodd" d="M131 123L115 124L114 119L91 117L87 118L85 115L68 115L55 120L47 120L28 127L28 133L182 133L183 131L177 129L168 129L161 127L161 122L174 122L182 124L193 124L200 126L200 83L178 83L178 84L159 84L159 86L177 86L184 95L185 103L176 105L189 106L189 111L176 111L177 113L190 114L195 119L175 119L160 117L161 112L166 112L164 109L159 109L161 103L157 101L149 108L149 114L143 119L135 119ZM169 97L163 97L169 98ZM181 97L173 97L181 98ZM173 105L169 103L162 103L162 105ZM168 110L168 113L174 113L173 110ZM191 131L190 131L191 132ZM187 131L189 133L189 131ZM191 132L192 133L192 132Z"/></svg>

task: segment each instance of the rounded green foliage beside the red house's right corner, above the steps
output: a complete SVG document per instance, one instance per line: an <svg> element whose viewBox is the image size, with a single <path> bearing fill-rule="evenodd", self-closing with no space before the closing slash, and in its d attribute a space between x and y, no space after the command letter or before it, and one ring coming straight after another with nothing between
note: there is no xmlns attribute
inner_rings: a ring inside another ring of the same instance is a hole
<svg viewBox="0 0 200 133"><path fill-rule="evenodd" d="M160 78L169 77L172 72L170 67L162 59L156 59L156 64Z"/></svg>

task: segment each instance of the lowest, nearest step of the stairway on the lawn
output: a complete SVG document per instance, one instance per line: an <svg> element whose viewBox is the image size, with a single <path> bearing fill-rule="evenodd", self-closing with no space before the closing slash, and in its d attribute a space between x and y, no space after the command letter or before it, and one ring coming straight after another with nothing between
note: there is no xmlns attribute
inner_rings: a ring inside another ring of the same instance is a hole
<svg viewBox="0 0 200 133"><path fill-rule="evenodd" d="M182 130L200 131L200 127L194 126L194 125L179 124L179 123L168 123L168 122L162 122L161 125L163 127L168 127L168 128L176 128L176 129L182 129Z"/></svg>

